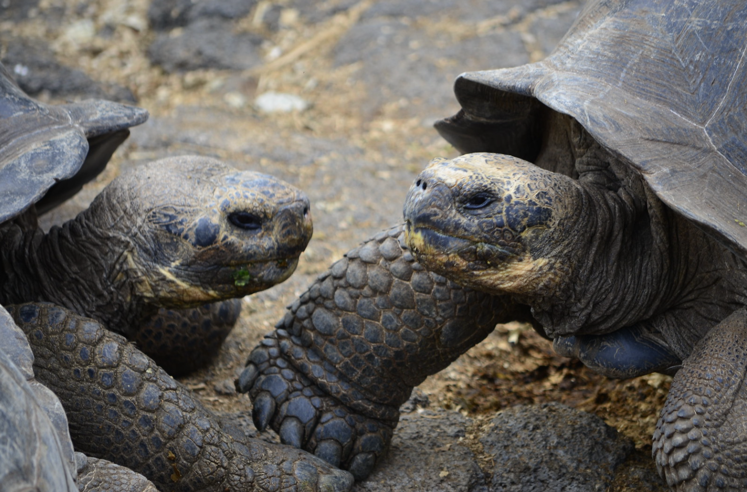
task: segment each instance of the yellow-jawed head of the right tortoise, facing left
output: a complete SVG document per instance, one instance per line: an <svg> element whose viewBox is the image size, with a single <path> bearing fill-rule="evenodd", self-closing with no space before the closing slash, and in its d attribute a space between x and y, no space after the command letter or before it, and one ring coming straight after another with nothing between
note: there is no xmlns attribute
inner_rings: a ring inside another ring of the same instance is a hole
<svg viewBox="0 0 747 492"><path fill-rule="evenodd" d="M475 289L536 295L557 283L564 193L554 173L512 156L434 159L404 207L406 242L426 268Z"/></svg>

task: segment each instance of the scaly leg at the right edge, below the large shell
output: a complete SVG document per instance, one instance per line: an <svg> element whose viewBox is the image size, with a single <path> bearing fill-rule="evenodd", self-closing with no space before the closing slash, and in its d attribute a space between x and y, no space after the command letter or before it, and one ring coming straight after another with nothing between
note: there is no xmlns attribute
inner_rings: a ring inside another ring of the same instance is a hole
<svg viewBox="0 0 747 492"><path fill-rule="evenodd" d="M675 491L747 489L747 310L698 342L675 375L654 432L659 473Z"/></svg>

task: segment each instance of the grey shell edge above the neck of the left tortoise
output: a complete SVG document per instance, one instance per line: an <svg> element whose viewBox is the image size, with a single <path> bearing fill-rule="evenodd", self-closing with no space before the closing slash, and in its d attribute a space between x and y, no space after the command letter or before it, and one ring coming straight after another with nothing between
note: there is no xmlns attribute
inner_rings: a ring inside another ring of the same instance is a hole
<svg viewBox="0 0 747 492"><path fill-rule="evenodd" d="M141 108L87 100L44 105L0 65L0 224L37 203L44 212L75 194L106 166L148 118Z"/></svg>

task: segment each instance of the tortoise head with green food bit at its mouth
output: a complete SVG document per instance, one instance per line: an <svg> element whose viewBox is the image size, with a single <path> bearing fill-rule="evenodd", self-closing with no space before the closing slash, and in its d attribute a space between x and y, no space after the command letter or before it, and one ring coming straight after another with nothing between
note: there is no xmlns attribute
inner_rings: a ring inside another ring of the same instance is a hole
<svg viewBox="0 0 747 492"><path fill-rule="evenodd" d="M90 212L93 211L93 212ZM114 283L187 307L288 278L309 244L309 199L267 174L214 159L163 159L114 179L89 212L127 246Z"/></svg>

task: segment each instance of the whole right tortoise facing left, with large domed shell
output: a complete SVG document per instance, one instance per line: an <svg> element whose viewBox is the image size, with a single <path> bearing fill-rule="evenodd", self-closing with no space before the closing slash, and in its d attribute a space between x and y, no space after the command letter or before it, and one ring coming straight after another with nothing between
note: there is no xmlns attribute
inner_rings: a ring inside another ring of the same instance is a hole
<svg viewBox="0 0 747 492"><path fill-rule="evenodd" d="M255 348L258 426L365 476L409 389L521 319L605 375L676 372L660 473L747 488L746 39L740 1L591 1L544 61L459 76L436 127L471 154L418 176L408 247L356 248Z"/></svg>

